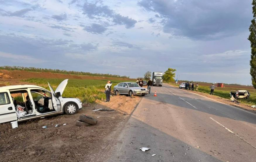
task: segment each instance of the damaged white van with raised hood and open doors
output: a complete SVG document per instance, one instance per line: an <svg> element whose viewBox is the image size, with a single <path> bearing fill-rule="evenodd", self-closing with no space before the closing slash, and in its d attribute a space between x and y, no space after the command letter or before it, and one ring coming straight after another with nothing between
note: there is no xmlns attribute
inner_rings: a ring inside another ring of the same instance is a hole
<svg viewBox="0 0 256 162"><path fill-rule="evenodd" d="M62 93L68 79L54 91L35 85L0 87L0 123L23 121L54 114L76 114L82 108L78 98L64 98Z"/></svg>

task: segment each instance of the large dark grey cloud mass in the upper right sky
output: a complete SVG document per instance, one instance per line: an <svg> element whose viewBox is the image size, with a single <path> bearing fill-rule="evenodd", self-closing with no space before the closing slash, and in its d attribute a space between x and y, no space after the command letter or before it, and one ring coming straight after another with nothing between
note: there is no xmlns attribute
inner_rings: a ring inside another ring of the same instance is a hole
<svg viewBox="0 0 256 162"><path fill-rule="evenodd" d="M248 1L141 0L138 4L146 11L162 18L164 33L190 39L220 39L248 30L252 19Z"/></svg>

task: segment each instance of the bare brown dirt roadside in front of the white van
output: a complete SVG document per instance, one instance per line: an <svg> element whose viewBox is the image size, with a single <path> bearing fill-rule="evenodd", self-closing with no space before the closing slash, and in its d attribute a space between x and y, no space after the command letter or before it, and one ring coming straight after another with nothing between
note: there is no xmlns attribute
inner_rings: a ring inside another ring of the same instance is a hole
<svg viewBox="0 0 256 162"><path fill-rule="evenodd" d="M99 156L111 147L141 99L138 96L112 96L109 103L98 101L83 105L75 115L55 115L20 122L16 129L12 129L10 123L0 124L0 161L98 161ZM115 111L92 111L99 108ZM98 123L76 126L81 114L96 118ZM55 127L55 124L59 126ZM42 126L47 126L47 129Z"/></svg>

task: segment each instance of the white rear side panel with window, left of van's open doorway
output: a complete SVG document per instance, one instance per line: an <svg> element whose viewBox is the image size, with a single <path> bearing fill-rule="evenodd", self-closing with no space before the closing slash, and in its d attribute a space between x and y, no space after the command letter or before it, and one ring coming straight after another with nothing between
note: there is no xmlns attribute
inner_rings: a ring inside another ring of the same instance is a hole
<svg viewBox="0 0 256 162"><path fill-rule="evenodd" d="M0 123L17 120L10 92L0 92Z"/></svg>

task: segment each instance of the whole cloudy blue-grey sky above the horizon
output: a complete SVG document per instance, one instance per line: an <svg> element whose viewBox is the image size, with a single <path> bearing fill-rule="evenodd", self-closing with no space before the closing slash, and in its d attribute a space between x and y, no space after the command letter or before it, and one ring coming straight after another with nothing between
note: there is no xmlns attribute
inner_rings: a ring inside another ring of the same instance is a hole
<svg viewBox="0 0 256 162"><path fill-rule="evenodd" d="M0 66L251 85L251 0L0 0Z"/></svg>

